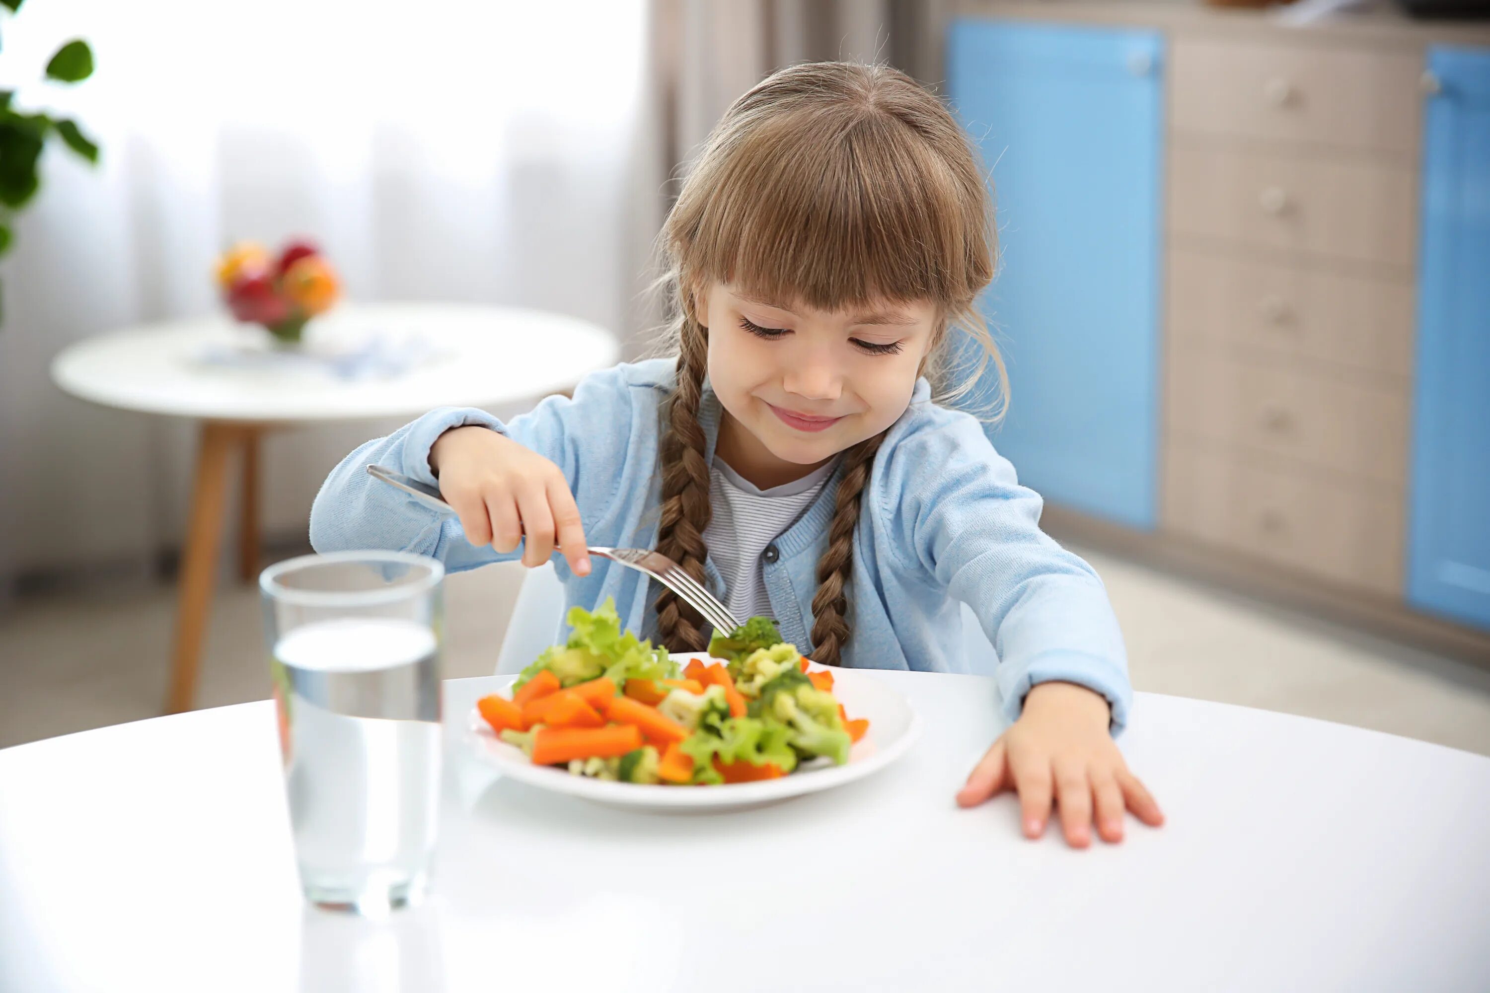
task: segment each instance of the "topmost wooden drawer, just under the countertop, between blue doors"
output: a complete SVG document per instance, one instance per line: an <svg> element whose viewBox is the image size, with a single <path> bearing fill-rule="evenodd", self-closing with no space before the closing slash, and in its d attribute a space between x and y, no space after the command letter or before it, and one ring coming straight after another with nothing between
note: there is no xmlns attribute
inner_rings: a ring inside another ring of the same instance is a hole
<svg viewBox="0 0 1490 993"><path fill-rule="evenodd" d="M1418 52L1177 37L1173 128L1416 158Z"/></svg>

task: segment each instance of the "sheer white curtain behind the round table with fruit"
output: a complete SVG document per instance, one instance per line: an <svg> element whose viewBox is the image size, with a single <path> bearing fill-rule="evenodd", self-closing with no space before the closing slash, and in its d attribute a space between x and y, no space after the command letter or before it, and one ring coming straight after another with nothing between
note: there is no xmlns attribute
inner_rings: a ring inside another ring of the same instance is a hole
<svg viewBox="0 0 1490 993"><path fill-rule="evenodd" d="M620 335L662 208L642 0L30 0L0 88L103 146L43 156L0 265L0 588L173 546L194 435L46 377L69 342L218 310L231 240L319 241L352 299L484 301ZM97 71L34 85L63 40ZM273 436L265 527L302 529L334 462L387 424Z"/></svg>

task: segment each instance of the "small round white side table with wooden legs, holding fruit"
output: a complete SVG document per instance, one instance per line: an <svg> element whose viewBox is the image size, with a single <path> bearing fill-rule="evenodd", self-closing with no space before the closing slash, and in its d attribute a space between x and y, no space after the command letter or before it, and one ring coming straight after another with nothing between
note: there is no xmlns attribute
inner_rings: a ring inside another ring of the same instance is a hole
<svg viewBox="0 0 1490 993"><path fill-rule="evenodd" d="M426 362L392 378L338 378L311 363L229 366L203 362L209 348L267 342L268 333L228 317L134 328L89 338L52 363L63 390L103 406L201 421L191 523L182 555L180 603L167 710L192 706L226 488L228 459L243 453L240 570L258 575L259 439L274 427L416 417L437 406L495 406L574 387L620 357L615 335L574 317L471 305L340 307L307 328L316 350L370 335L428 342ZM305 508L308 515L310 508Z"/></svg>

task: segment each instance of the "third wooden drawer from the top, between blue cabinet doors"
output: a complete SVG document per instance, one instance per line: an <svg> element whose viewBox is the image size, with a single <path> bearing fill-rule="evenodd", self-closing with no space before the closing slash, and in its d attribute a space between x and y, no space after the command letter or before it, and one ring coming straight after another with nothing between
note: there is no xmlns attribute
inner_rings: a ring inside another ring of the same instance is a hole
<svg viewBox="0 0 1490 993"><path fill-rule="evenodd" d="M1413 284L1259 262L1170 253L1168 332L1284 359L1405 378L1413 371Z"/></svg>

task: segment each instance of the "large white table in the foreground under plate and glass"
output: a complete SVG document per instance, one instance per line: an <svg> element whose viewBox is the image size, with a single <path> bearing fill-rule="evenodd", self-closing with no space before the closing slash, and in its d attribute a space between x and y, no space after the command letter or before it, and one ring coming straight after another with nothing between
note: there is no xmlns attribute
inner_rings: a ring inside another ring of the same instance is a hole
<svg viewBox="0 0 1490 993"><path fill-rule="evenodd" d="M861 783L724 816L495 779L446 685L435 895L299 898L268 703L0 752L0 989L1484 990L1490 759L1138 694L1170 823L1086 852L952 795L992 680L884 673L921 743Z"/></svg>

